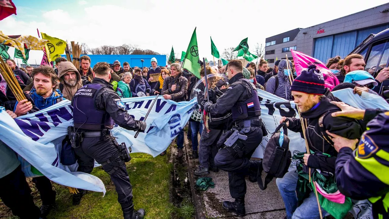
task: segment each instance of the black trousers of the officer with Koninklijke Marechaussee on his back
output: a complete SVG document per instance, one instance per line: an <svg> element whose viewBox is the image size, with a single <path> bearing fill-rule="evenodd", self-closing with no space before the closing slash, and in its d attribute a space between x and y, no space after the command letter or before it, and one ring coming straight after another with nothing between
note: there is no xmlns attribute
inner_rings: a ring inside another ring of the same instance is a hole
<svg viewBox="0 0 389 219"><path fill-rule="evenodd" d="M94 160L101 164L118 152L119 150L116 147L117 142L113 139L112 136L106 136L105 140L100 140L100 137L84 138L81 147L75 148L74 150L79 164L78 171L91 173ZM103 166L103 170L107 173L113 168L117 168L117 170L110 174L110 177L116 188L117 201L122 208L129 207L132 205L132 186L128 177L126 164L122 166L112 166L111 164Z"/></svg>

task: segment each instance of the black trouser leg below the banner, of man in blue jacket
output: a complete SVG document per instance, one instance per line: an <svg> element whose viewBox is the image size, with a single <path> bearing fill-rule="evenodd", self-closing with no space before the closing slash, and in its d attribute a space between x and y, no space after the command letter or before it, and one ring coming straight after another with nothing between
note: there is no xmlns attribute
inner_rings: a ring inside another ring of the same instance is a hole
<svg viewBox="0 0 389 219"><path fill-rule="evenodd" d="M55 203L55 191L53 190L53 186L49 178L42 177L34 177L32 178L32 182L35 183L35 187L37 187L40 200L42 200L42 205L53 205Z"/></svg>

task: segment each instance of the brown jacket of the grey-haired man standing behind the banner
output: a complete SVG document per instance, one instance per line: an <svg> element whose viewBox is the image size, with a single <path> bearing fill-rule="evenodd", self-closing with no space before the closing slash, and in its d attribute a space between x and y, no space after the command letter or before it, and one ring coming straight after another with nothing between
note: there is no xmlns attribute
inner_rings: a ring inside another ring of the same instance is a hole
<svg viewBox="0 0 389 219"><path fill-rule="evenodd" d="M174 91L172 85L176 85ZM163 81L162 95L169 94L172 95L172 100L175 102L181 102L186 100L188 89L188 79L182 76L182 73L179 73L177 76L168 76Z"/></svg>

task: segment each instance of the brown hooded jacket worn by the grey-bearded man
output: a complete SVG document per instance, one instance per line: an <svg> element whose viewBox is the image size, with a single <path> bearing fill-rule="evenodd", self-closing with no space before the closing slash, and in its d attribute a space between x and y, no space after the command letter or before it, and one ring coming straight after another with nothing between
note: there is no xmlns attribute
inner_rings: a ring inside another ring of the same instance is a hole
<svg viewBox="0 0 389 219"><path fill-rule="evenodd" d="M69 85L67 85L63 79L63 76L69 71L76 72L77 83L73 87L70 87ZM75 92L82 87L82 79L81 79L80 72L72 64L72 62L68 62L68 61L61 62L60 66L58 66L58 78L60 78L60 83L61 83L60 90L63 94L63 98L71 101Z"/></svg>

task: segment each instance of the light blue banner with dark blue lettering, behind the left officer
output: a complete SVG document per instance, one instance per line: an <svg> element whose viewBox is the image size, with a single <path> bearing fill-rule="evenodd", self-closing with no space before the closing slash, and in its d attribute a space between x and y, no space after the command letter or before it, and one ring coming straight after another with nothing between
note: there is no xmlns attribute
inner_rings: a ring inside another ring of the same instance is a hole
<svg viewBox="0 0 389 219"><path fill-rule="evenodd" d="M131 117L144 120L154 98L122 99L123 107ZM146 120L145 133L141 132L134 138L134 131L115 125L112 134L117 142L131 147L132 152L155 157L166 150L187 124L195 103L196 100L177 103L160 96ZM33 171L36 168L58 184L105 193L104 184L98 177L77 172L77 163L64 166L60 162L62 140L67 135L67 127L73 125L72 109L71 102L64 100L36 113L12 119L1 108L0 139L19 154L26 177L37 177Z"/></svg>

